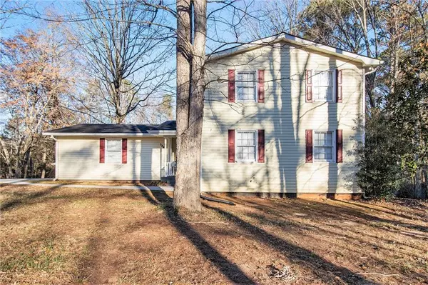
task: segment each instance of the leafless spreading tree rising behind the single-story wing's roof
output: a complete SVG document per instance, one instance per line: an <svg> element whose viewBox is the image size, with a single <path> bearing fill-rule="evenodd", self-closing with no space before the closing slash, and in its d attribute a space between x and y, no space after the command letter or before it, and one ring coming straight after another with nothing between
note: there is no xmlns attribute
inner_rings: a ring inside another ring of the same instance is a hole
<svg viewBox="0 0 428 285"><path fill-rule="evenodd" d="M158 9L134 0L84 1L85 21L78 21L76 44L95 79L89 90L101 96L110 121L122 124L150 98L170 94L170 31L152 24ZM103 105L101 105L103 106Z"/></svg>

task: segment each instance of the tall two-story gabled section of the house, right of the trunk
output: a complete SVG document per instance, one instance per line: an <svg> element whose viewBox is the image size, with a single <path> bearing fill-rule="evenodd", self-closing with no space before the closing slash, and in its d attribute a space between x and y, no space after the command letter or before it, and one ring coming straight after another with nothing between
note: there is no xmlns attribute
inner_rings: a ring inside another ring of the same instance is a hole
<svg viewBox="0 0 428 285"><path fill-rule="evenodd" d="M208 60L203 191L358 191L352 149L379 60L290 34Z"/></svg>

